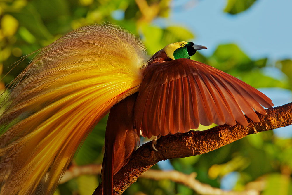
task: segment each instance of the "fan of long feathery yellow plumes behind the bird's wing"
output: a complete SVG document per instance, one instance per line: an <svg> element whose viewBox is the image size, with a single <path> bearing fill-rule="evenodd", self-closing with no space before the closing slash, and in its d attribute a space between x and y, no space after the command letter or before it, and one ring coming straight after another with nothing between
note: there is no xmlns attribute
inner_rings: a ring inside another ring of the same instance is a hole
<svg viewBox="0 0 292 195"><path fill-rule="evenodd" d="M42 49L0 116L2 126L17 121L0 137L1 194L52 194L96 123L138 91L144 51L113 25L81 27Z"/></svg>

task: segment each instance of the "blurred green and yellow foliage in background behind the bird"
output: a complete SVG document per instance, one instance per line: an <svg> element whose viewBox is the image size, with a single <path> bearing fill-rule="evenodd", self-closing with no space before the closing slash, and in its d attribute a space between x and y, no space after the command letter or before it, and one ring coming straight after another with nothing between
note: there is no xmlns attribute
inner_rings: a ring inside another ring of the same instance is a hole
<svg viewBox="0 0 292 195"><path fill-rule="evenodd" d="M226 0L226 7L222 11L235 15L251 7L255 1ZM34 56L29 54L83 25L103 22L120 25L142 38L150 56L169 43L195 40L194 32L180 24L161 27L152 23L154 19L169 17L171 2L1 0L0 71L3 79L0 89L6 90L5 86L27 66ZM26 55L27 58L21 58ZM230 73L256 88L292 89L291 59L281 59L275 64L269 64L267 58L251 59L234 43L218 45L211 56L203 56L198 52L192 59ZM264 74L263 70L270 66L277 67L285 76L276 79ZM94 128L74 157L72 165L102 163L106 122L107 117ZM262 132L203 155L164 161L153 168L175 169L186 174L196 172L197 180L221 189L240 191L252 188L259 189L265 195L292 194L292 139L278 137L273 131ZM74 178L60 184L55 194L92 194L99 184L99 177L83 175ZM253 185L258 181L264 181L263 187ZM187 195L197 192L169 180L157 182L141 178L124 194Z"/></svg>

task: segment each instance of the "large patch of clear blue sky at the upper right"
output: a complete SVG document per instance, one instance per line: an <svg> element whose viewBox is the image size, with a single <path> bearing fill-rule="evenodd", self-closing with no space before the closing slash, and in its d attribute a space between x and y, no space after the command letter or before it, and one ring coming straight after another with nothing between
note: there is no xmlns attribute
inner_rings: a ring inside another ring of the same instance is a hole
<svg viewBox="0 0 292 195"><path fill-rule="evenodd" d="M237 15L224 13L227 0L175 0L168 25L181 24L211 54L218 44L236 43L252 58L292 58L292 1L257 0Z"/></svg>

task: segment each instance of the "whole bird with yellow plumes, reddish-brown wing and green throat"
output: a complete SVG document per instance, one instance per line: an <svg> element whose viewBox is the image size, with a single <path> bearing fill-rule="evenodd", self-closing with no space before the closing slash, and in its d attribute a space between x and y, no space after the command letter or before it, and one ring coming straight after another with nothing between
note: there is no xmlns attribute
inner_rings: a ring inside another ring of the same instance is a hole
<svg viewBox="0 0 292 195"><path fill-rule="evenodd" d="M205 46L175 42L147 60L142 40L105 23L73 30L44 47L1 103L1 194L53 194L74 153L107 115L103 194L139 136L199 124L260 122L272 101L245 82L191 60Z"/></svg>

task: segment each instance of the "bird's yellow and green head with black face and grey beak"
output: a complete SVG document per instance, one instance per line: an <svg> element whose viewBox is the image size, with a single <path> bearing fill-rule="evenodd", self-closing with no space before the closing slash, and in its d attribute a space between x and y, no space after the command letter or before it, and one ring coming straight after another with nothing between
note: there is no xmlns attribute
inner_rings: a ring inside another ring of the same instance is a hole
<svg viewBox="0 0 292 195"><path fill-rule="evenodd" d="M173 60L179 58L190 59L190 57L194 55L197 50L200 49L207 48L202 45L195 45L193 42L185 41L171 43L163 48L166 55Z"/></svg>

